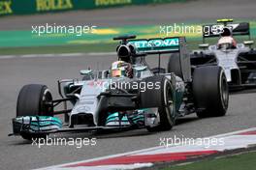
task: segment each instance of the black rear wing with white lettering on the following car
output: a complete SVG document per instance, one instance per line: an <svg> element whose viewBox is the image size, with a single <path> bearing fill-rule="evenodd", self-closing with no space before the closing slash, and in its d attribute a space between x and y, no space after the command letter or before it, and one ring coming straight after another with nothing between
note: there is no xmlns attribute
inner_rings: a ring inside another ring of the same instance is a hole
<svg viewBox="0 0 256 170"><path fill-rule="evenodd" d="M232 30L233 36L249 36L250 38L250 25L248 22L241 23L217 23L203 26L203 39L218 37L224 27Z"/></svg>

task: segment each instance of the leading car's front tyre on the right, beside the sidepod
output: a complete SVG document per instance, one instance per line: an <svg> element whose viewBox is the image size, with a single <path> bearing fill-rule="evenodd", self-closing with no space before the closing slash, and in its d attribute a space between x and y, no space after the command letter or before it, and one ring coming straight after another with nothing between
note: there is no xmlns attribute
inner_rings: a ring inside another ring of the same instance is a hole
<svg viewBox="0 0 256 170"><path fill-rule="evenodd" d="M146 77L142 82L159 83L159 88L146 89L140 92L141 106L144 108L157 107L156 116L159 117L159 125L146 127L148 131L161 131L173 128L176 121L175 88L171 81L162 75Z"/></svg>

